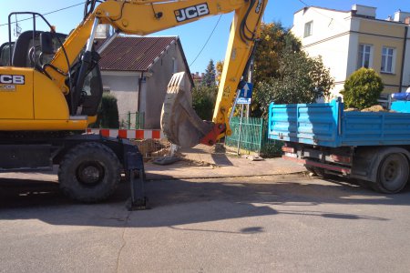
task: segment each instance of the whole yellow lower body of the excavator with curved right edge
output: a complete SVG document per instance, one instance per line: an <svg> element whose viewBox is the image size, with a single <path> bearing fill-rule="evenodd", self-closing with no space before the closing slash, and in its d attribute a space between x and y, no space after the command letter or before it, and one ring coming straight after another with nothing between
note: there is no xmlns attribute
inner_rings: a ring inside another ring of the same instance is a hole
<svg viewBox="0 0 410 273"><path fill-rule="evenodd" d="M70 120L60 89L33 68L0 67L0 130L85 130L88 122Z"/></svg>

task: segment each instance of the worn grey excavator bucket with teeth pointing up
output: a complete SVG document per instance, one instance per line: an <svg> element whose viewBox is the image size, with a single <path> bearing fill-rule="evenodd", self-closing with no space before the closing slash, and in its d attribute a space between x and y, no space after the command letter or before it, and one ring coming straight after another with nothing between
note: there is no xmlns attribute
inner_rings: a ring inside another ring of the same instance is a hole
<svg viewBox="0 0 410 273"><path fill-rule="evenodd" d="M185 88L185 72L171 77L161 113L161 129L179 147L194 147L207 136L213 123L200 119L192 108L190 90Z"/></svg>

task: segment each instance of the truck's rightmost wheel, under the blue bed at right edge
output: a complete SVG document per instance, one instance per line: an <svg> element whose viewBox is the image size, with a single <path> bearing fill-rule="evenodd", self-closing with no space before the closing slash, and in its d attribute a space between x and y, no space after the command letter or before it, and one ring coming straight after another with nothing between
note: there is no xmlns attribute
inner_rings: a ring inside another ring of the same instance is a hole
<svg viewBox="0 0 410 273"><path fill-rule="evenodd" d="M400 153L388 154L379 165L374 189L382 193L397 193L407 184L408 175L407 157Z"/></svg>

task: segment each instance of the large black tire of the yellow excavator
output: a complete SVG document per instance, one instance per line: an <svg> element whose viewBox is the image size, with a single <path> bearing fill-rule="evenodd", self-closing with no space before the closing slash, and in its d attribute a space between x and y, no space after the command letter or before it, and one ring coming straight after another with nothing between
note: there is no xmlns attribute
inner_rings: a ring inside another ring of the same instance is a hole
<svg viewBox="0 0 410 273"><path fill-rule="evenodd" d="M120 170L118 157L110 148L89 142L67 152L58 169L58 181L68 197L96 203L115 192Z"/></svg>

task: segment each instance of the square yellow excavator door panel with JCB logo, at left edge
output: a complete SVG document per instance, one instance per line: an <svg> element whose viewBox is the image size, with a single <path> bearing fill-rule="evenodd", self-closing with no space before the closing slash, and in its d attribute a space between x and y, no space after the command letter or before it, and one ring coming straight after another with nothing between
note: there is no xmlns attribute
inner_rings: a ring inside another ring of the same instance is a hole
<svg viewBox="0 0 410 273"><path fill-rule="evenodd" d="M33 69L0 67L0 122L33 118Z"/></svg>

